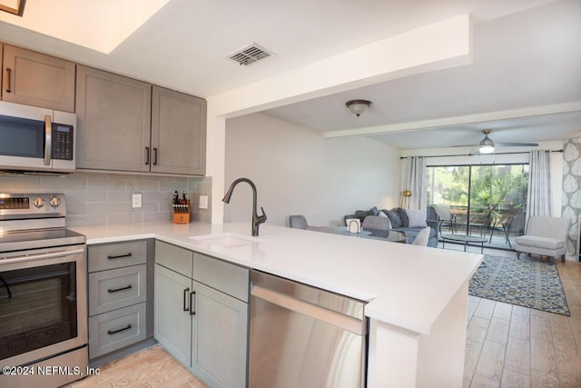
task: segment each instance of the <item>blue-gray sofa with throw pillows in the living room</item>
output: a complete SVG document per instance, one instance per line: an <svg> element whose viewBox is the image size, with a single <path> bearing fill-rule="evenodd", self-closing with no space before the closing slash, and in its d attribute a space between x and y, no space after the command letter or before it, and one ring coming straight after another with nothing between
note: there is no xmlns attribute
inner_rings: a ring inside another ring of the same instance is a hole
<svg viewBox="0 0 581 388"><path fill-rule="evenodd" d="M413 211L412 211L413 212ZM382 213L382 214L380 214ZM438 220L436 220L435 214L431 214L430 217L429 209L426 213L426 218L422 221L426 222L426 225L430 227L429 231L429 239L428 239L428 246L436 247L438 246ZM343 223L345 225L348 218L359 218L361 224L363 220L368 215L386 215L389 218L389 222L391 223L391 229L398 232L404 232L408 235L408 243L411 244L416 239L416 235L419 234L419 231L422 230L425 226L422 223L418 223L418 220L413 220L412 225L409 226L409 211L406 209L402 209L400 207L393 208L391 210L381 209L379 210L376 206L372 207L369 210L358 210L355 214L347 214L343 217ZM415 222L416 224L413 224ZM421 225L420 225L421 224Z"/></svg>

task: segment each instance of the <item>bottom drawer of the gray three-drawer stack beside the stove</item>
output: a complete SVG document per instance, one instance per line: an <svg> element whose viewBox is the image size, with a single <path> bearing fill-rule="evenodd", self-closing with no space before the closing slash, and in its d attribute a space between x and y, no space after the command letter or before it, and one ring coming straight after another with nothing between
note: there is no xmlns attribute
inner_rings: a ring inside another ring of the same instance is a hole
<svg viewBox="0 0 581 388"><path fill-rule="evenodd" d="M145 339L145 303L89 318L89 359Z"/></svg>

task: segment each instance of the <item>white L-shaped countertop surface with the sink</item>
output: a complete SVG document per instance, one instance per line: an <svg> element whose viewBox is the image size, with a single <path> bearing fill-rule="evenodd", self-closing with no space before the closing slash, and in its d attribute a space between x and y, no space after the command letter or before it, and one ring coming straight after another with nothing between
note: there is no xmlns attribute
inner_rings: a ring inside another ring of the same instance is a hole
<svg viewBox="0 0 581 388"><path fill-rule="evenodd" d="M261 224L260 243L226 247L194 235L243 234L250 224L126 224L74 227L87 244L156 238L202 254L368 301L369 318L429 334L482 261L481 254Z"/></svg>

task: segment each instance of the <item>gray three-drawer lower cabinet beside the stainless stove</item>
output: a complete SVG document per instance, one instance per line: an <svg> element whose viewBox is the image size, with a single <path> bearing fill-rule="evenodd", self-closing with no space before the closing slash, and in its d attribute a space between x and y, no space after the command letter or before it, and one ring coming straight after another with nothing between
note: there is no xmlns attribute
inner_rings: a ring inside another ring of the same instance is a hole
<svg viewBox="0 0 581 388"><path fill-rule="evenodd" d="M151 336L147 244L142 240L87 249L91 360Z"/></svg>

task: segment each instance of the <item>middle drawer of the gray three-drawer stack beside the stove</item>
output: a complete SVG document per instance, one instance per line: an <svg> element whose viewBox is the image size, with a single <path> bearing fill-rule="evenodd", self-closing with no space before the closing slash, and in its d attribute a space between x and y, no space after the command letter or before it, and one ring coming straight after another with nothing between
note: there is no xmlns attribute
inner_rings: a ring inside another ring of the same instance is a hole
<svg viewBox="0 0 581 388"><path fill-rule="evenodd" d="M146 299L145 264L89 274L89 316Z"/></svg>

